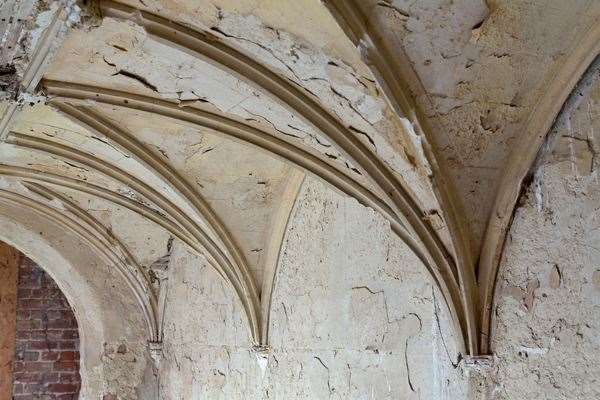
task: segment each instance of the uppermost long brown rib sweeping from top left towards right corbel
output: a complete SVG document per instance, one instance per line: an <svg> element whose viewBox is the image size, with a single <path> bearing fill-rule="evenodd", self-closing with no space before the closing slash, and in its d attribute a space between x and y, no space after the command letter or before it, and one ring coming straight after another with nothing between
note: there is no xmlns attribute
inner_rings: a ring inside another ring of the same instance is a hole
<svg viewBox="0 0 600 400"><path fill-rule="evenodd" d="M132 19L143 26L151 37L201 58L266 91L319 130L353 165L365 173L367 179L383 192L385 198L390 200L389 205L394 208L404 229L412 237L410 242L419 242L419 253L425 257L425 265L440 285L450 308L455 308L454 305L459 307L454 315L460 321L460 331L466 332L464 329L472 324L468 323L471 318L462 312L460 294L454 293L458 286L456 265L433 227L424 219L425 213L420 210L417 202L389 167L337 118L324 110L317 100L304 89L243 52L230 47L211 33L199 32L147 11L110 0L100 1L100 8L104 15Z"/></svg>

